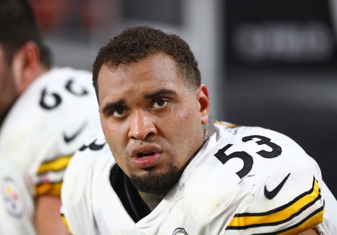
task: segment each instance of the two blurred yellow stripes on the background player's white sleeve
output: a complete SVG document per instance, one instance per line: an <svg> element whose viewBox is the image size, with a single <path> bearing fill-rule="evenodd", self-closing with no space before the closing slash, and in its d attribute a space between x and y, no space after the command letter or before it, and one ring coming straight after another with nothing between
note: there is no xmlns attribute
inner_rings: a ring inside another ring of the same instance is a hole
<svg viewBox="0 0 337 235"><path fill-rule="evenodd" d="M43 162L40 165L37 170L37 175L38 177L41 175L47 175L47 182L35 185L36 196L42 194L48 194L57 197L61 196L62 179L58 179L56 181L48 179L48 173L64 171L69 164L71 157L72 155L61 156L55 160Z"/></svg>

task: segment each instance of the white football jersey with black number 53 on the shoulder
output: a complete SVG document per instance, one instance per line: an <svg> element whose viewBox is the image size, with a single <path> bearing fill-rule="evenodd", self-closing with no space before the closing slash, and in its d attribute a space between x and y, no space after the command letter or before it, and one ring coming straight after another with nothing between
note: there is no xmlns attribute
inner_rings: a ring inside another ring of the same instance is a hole
<svg viewBox="0 0 337 235"><path fill-rule="evenodd" d="M72 234L290 235L313 227L335 234L336 217L322 222L317 163L285 135L230 126L216 122L178 183L137 223L112 188L116 162L103 133L87 141L71 159L61 191Z"/></svg>

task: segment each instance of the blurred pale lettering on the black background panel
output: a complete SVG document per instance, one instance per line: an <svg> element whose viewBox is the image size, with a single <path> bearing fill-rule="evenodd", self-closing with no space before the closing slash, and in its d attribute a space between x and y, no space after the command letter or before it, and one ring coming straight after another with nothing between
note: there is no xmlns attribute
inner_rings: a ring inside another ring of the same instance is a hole
<svg viewBox="0 0 337 235"><path fill-rule="evenodd" d="M334 50L331 29L321 21L241 24L232 40L238 57L248 63L327 61Z"/></svg>

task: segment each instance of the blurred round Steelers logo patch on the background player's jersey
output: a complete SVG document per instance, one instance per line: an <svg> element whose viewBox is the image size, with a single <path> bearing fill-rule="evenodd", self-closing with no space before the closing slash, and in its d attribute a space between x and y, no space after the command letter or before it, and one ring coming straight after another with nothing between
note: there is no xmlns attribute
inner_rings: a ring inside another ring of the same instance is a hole
<svg viewBox="0 0 337 235"><path fill-rule="evenodd" d="M22 208L19 201L18 188L13 179L6 177L2 184L2 195L6 209L13 217L22 216Z"/></svg>

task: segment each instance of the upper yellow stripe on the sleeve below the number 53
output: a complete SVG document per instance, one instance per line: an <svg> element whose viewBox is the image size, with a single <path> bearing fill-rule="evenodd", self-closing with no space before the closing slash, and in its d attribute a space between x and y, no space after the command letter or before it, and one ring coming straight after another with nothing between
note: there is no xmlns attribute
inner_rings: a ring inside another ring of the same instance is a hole
<svg viewBox="0 0 337 235"><path fill-rule="evenodd" d="M254 224L265 224L273 223L285 220L289 218L292 214L298 212L302 207L312 202L319 195L319 186L315 180L314 190L311 194L305 195L304 197L297 200L294 204L284 208L283 210L277 211L266 216L246 216L246 217L234 217L229 223L229 226L247 226Z"/></svg>

